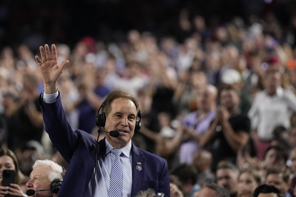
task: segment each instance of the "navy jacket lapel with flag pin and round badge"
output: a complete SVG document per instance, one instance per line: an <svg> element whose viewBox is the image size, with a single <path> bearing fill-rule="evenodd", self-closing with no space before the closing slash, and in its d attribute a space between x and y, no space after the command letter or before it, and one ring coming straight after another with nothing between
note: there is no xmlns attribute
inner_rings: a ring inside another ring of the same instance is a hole
<svg viewBox="0 0 296 197"><path fill-rule="evenodd" d="M145 158L141 157L142 152L132 143L132 191L130 196L137 195L142 185L142 176L145 170Z"/></svg>

